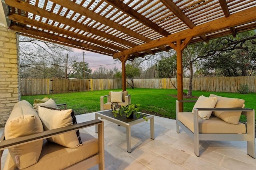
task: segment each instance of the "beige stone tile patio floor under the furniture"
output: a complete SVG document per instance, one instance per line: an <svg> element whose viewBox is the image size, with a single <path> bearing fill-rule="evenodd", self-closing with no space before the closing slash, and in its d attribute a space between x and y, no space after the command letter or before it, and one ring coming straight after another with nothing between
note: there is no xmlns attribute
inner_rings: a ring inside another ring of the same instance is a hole
<svg viewBox="0 0 256 170"><path fill-rule="evenodd" d="M95 117L94 113L87 113L76 118L80 123ZM176 132L175 120L155 116L155 139L150 139L149 122L133 125L132 152L128 153L126 129L102 120L106 170L256 170L256 159L247 155L244 141L201 141L197 157L192 139L182 130L180 134ZM97 137L95 127L86 131ZM90 168L97 169L98 166Z"/></svg>

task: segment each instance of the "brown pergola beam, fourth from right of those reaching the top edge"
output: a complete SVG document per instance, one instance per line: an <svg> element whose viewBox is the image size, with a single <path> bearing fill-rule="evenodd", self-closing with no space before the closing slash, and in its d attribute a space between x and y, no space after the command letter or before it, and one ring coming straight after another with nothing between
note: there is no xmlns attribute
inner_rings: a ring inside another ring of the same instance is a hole
<svg viewBox="0 0 256 170"><path fill-rule="evenodd" d="M127 35L130 35L132 37L135 37L137 39L140 39L146 43L150 42L151 40L147 37L144 37L143 35L136 33L132 31L131 29L128 29L115 21L109 20L108 18L105 18L87 8L84 8L83 6L80 6L76 4L75 2L72 2L70 0L64 1L64 0L51 0L52 2L59 4L60 6L64 6L70 10L73 10L74 12L78 12L79 14L83 14L86 17L91 18L92 20L98 21L100 23L103 23L105 25L108 25L109 27L112 27L116 30L119 30L123 33L126 33ZM117 1L118 2L118 1Z"/></svg>

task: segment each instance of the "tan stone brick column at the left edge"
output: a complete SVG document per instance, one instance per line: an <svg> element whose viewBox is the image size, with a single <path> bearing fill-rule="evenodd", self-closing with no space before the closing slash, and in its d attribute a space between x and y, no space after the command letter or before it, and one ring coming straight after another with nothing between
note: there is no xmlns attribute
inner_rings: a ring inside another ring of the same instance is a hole
<svg viewBox="0 0 256 170"><path fill-rule="evenodd" d="M0 126L20 100L18 80L18 35L0 26Z"/></svg>

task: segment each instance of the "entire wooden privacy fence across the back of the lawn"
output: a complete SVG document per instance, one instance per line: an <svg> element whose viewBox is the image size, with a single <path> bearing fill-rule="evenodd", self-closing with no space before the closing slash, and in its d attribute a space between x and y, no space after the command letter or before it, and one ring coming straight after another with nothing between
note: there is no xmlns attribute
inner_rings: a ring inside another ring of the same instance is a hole
<svg viewBox="0 0 256 170"><path fill-rule="evenodd" d="M128 82L131 84L130 80ZM183 88L188 89L189 78L183 78ZM135 88L175 89L176 78L134 79ZM250 92L256 93L256 76L243 77L203 77L193 78L193 90L209 92L238 92L241 84L247 84ZM126 87L130 85L126 83ZM116 79L20 79L22 96L38 94L57 94L68 92L86 92L122 88L122 80Z"/></svg>

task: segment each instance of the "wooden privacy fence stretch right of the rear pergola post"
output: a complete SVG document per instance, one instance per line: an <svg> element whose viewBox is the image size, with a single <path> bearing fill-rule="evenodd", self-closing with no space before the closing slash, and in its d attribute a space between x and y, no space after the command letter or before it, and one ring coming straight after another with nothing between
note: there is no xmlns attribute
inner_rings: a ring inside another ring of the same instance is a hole
<svg viewBox="0 0 256 170"><path fill-rule="evenodd" d="M131 84L131 81L128 80ZM183 78L183 89L188 89L189 78ZM173 85L174 84L174 85ZM200 77L193 78L193 90L208 92L237 93L241 84L247 84L249 91L256 93L256 76L241 77ZM167 88L177 87L176 78L134 79L134 88Z"/></svg>

